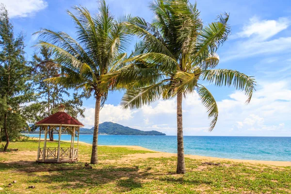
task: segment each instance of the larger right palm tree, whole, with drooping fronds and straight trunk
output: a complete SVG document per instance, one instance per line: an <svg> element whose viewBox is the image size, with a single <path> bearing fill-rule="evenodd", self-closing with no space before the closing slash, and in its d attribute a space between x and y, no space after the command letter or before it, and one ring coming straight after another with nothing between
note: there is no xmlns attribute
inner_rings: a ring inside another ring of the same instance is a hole
<svg viewBox="0 0 291 194"><path fill-rule="evenodd" d="M127 87L121 101L125 108L140 108L161 97L177 97L177 173L184 174L183 95L196 91L200 96L211 119L211 131L218 118L218 108L210 91L201 83L235 86L245 92L248 103L255 81L235 70L213 69L219 62L216 50L230 32L227 14L204 26L196 4L188 0L159 0L150 7L155 15L152 24L140 17L124 23L142 41L125 60L128 65L105 77L112 83L112 88L116 88L114 83ZM120 84L122 81L123 85Z"/></svg>

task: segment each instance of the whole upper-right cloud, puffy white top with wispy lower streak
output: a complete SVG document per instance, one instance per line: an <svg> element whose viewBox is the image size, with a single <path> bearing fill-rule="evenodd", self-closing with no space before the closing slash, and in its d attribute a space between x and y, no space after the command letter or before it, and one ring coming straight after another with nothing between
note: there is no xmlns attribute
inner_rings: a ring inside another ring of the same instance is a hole
<svg viewBox="0 0 291 194"><path fill-rule="evenodd" d="M231 48L222 54L222 60L289 53L291 50L290 36L268 39L286 30L290 24L291 21L287 17L280 17L277 20L259 20L257 17L252 17L241 32L230 36L233 43Z"/></svg>

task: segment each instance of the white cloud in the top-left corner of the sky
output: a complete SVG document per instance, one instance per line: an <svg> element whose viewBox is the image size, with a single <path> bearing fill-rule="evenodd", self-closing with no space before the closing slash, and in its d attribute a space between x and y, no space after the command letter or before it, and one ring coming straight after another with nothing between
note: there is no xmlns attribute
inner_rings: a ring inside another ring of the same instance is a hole
<svg viewBox="0 0 291 194"><path fill-rule="evenodd" d="M9 17L27 17L45 9L48 6L45 0L0 0L8 10Z"/></svg>

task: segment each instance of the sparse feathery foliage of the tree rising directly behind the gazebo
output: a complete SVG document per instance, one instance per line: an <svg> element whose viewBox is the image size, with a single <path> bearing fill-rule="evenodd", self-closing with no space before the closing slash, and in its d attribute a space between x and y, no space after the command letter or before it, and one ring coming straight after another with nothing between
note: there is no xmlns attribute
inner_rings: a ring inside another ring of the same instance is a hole
<svg viewBox="0 0 291 194"><path fill-rule="evenodd" d="M82 95L74 93L70 97L70 93L65 86L59 86L55 83L47 82L49 78L56 77L61 74L62 68L51 49L41 47L40 54L33 55L31 62L33 67L33 83L37 92L37 100L32 105L26 107L30 123L35 123L52 113L58 112L60 104L65 105L65 111L77 118L78 115L84 117L84 109L82 106Z"/></svg>

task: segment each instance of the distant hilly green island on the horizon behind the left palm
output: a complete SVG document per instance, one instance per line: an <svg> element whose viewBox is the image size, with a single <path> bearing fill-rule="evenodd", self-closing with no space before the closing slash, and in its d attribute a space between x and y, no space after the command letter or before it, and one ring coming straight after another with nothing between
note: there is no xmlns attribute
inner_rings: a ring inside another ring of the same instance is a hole
<svg viewBox="0 0 291 194"><path fill-rule="evenodd" d="M93 134L94 127L91 129L87 128L80 128L80 134ZM28 133L27 131L22 131L23 133ZM57 133L57 131L54 131ZM39 129L36 129L29 133L39 133ZM113 122L104 122L99 124L99 131L98 134L100 135L166 135L162 132L156 130L150 131L143 131L138 129L132 129L129 127L122 126L117 123Z"/></svg>

